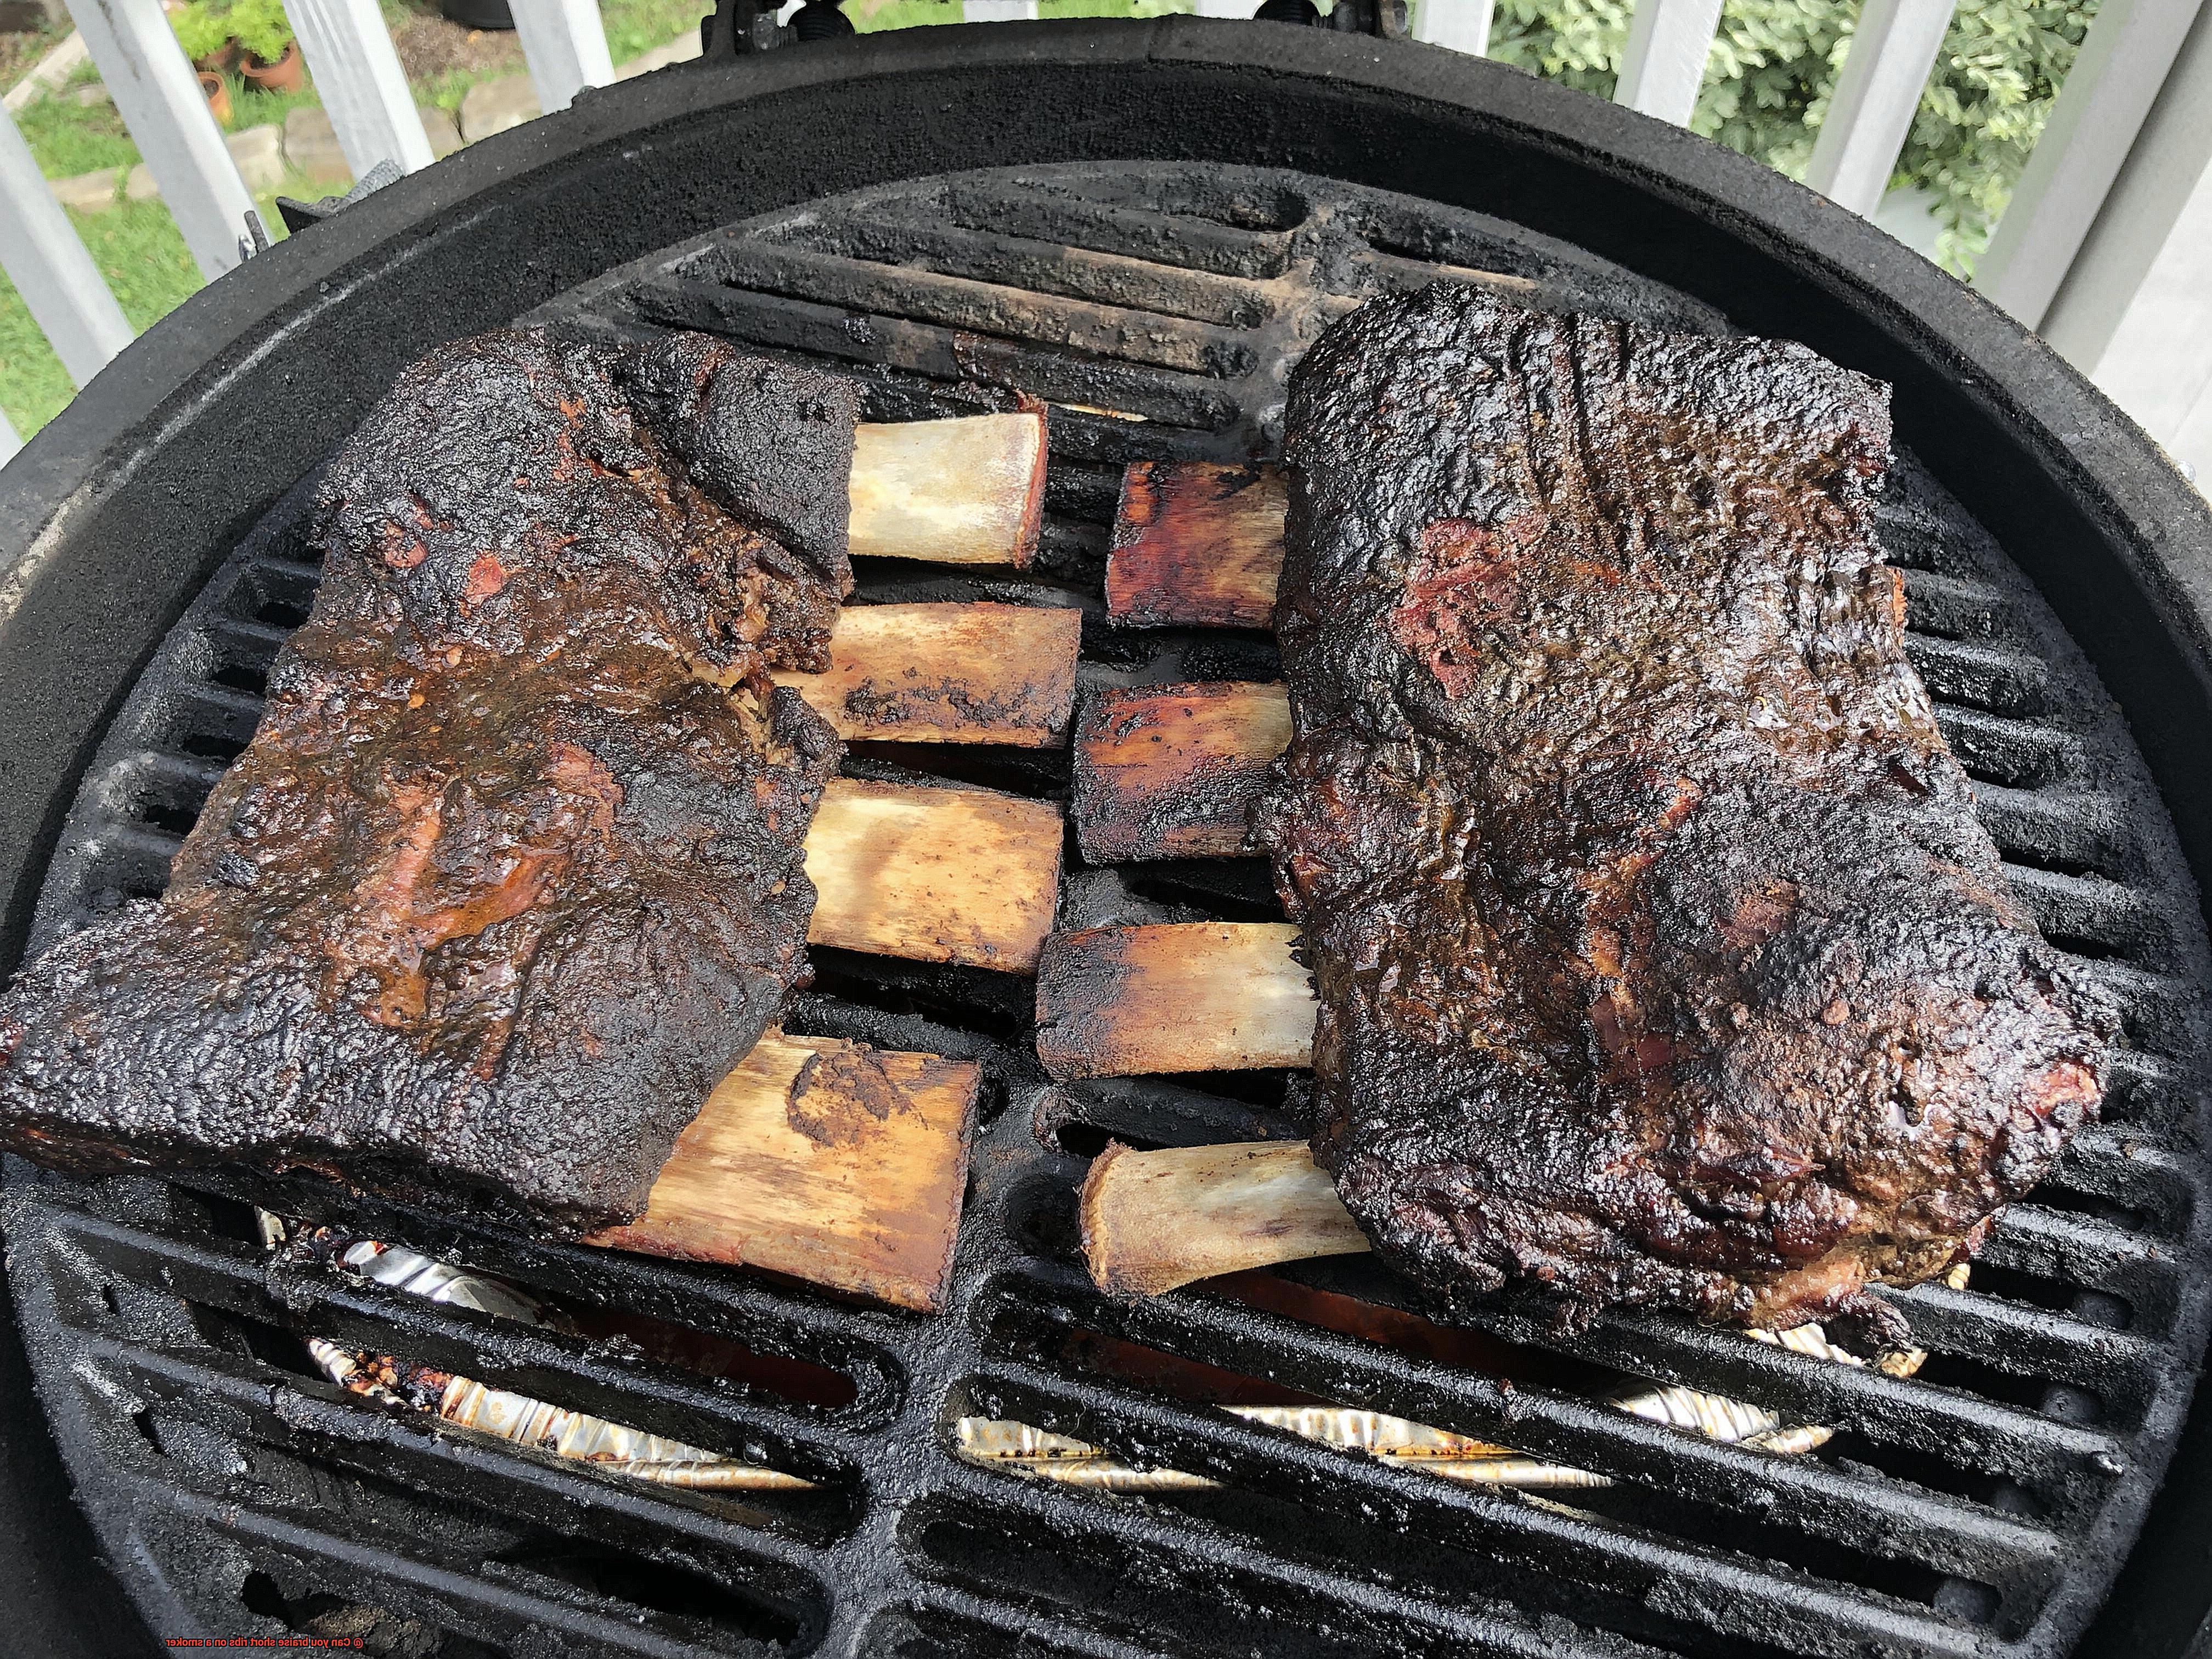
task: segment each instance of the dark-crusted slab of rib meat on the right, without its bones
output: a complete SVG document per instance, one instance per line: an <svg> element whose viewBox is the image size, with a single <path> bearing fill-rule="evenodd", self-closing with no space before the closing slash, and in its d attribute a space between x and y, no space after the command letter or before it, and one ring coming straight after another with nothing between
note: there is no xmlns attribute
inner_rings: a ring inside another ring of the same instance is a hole
<svg viewBox="0 0 2212 1659"><path fill-rule="evenodd" d="M1887 389L1438 285L1323 336L1287 458L1254 838L1376 1248L1763 1327L1971 1252L2115 1020L1905 664Z"/></svg>

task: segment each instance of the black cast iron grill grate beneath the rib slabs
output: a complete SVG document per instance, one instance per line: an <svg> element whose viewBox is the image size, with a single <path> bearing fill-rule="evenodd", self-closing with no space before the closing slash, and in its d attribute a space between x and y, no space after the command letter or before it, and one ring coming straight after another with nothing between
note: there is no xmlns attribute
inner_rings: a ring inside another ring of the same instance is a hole
<svg viewBox="0 0 2212 1659"><path fill-rule="evenodd" d="M975 173L812 204L668 250L538 321L706 327L849 367L872 418L1055 403L1026 575L880 564L858 602L1084 611L1086 688L1272 679L1272 641L1104 626L1137 458L1279 440L1283 369L1360 296L1436 276L1721 330L1564 243L1261 168ZM259 717L316 566L279 507L170 635L95 757L40 936L155 894ZM2172 827L2095 675L1909 458L1882 533L1913 661L2013 880L2126 993L2108 1121L2011 1212L1966 1292L1900 1296L1918 1378L1663 1316L1566 1338L1498 1305L1440 1329L1336 1259L1102 1301L1073 1186L1139 1146L1296 1135L1281 1073L1044 1086L1031 984L816 953L790 1026L984 1062L953 1307L909 1318L765 1276L549 1245L310 1181L77 1183L11 1166L9 1239L49 1409L155 1628L374 1635L392 1652L2031 1655L2095 1610L2205 1338L2208 956ZM1066 757L863 745L849 768L1064 796ZM1064 925L1279 916L1256 860L1088 869ZM270 1265L248 1199L529 1285L582 1336ZM301 1338L398 1352L803 1475L810 1493L639 1489L345 1400ZM1500 1383L1500 1374L1511 1385ZM1836 1427L1781 1458L1599 1402L1624 1376ZM1571 1502L1451 1486L1217 1411L1374 1407L1613 1478ZM962 1464L980 1413L1219 1491L1110 1498ZM347 1626L352 1621L352 1626ZM372 1648L374 1650L374 1648Z"/></svg>

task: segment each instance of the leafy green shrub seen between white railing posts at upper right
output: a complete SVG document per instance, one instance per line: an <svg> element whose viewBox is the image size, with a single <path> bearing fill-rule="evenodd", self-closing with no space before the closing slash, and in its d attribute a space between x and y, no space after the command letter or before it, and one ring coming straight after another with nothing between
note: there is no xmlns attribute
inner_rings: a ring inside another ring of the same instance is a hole
<svg viewBox="0 0 2212 1659"><path fill-rule="evenodd" d="M1491 55L1613 95L1630 0L1498 0ZM1891 186L1933 195L1940 254L1969 272L2004 212L2095 0L1960 0ZM1690 126L1803 177L1851 44L1849 0L1728 0Z"/></svg>

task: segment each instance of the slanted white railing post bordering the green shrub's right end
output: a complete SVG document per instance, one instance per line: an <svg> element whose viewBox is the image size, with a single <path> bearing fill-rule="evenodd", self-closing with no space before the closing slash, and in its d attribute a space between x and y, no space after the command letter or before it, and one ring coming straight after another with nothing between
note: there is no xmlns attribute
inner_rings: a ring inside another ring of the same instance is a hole
<svg viewBox="0 0 2212 1659"><path fill-rule="evenodd" d="M2194 18L2197 0L2104 0L2097 9L1973 272L1973 285L2028 327L2042 325L2066 281Z"/></svg>

